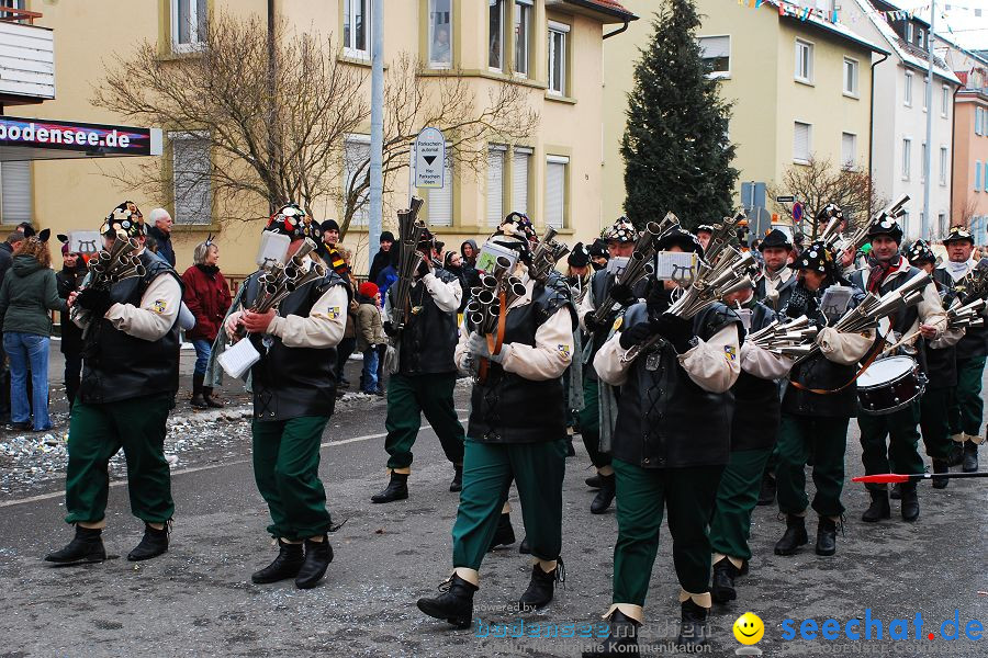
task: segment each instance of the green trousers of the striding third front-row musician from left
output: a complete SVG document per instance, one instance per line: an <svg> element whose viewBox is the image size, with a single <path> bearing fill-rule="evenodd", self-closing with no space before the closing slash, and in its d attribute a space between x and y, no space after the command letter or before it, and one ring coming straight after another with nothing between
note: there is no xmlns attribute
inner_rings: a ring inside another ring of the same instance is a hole
<svg viewBox="0 0 988 658"><path fill-rule="evenodd" d="M491 547L512 480L531 555L559 557L562 548L562 483L565 440L540 443L480 443L467 439L463 490L453 523L453 567L480 569Z"/></svg>

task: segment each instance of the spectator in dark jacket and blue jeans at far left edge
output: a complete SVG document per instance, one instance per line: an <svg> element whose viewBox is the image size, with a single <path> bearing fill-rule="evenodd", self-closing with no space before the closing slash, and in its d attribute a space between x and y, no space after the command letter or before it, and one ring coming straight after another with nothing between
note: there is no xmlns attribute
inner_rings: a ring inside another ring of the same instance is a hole
<svg viewBox="0 0 988 658"><path fill-rule="evenodd" d="M43 236L18 242L13 264L0 286L0 322L3 349L10 359L11 426L26 430L34 409L34 431L52 429L48 416L48 343L52 337L49 311L66 311L58 296L52 254ZM32 399L27 400L27 372Z"/></svg>

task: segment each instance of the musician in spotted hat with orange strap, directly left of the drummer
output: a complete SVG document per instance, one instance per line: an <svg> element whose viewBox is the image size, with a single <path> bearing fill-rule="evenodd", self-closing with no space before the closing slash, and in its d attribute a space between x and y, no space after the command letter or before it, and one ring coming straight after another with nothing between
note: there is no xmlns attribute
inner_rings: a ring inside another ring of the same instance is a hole
<svg viewBox="0 0 988 658"><path fill-rule="evenodd" d="M813 510L820 515L817 526L817 555L837 552L837 524L844 512L841 489L844 486L844 452L847 424L857 410L857 362L875 342L873 331L840 332L827 327L820 300L832 285L846 284L838 274L830 247L817 241L793 263L798 283L783 309L783 316L807 316L821 327L816 343L820 351L793 366L782 402L778 430L778 508L786 514L786 532L775 544L776 555L795 555L808 543L806 512L806 465L813 456ZM852 288L850 307L861 302L862 293Z"/></svg>

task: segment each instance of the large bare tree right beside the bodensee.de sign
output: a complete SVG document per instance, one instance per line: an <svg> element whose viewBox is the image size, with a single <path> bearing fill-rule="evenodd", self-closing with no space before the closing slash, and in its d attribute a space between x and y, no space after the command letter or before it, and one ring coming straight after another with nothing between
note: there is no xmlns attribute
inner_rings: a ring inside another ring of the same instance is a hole
<svg viewBox="0 0 988 658"><path fill-rule="evenodd" d="M189 170L150 161L108 174L162 200L207 181L221 222L256 219L262 203L296 201L310 214L330 203L340 189L344 138L369 115L366 75L339 63L330 38L299 34L283 20L274 24L273 54L272 63L266 20L215 14L201 50L162 58L145 41L117 56L92 103L166 131L200 134L211 157Z"/></svg>

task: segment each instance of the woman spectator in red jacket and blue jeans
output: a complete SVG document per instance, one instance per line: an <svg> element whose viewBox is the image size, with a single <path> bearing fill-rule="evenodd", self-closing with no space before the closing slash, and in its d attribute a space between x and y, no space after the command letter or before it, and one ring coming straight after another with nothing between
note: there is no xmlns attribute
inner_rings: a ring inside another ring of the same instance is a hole
<svg viewBox="0 0 988 658"><path fill-rule="evenodd" d="M182 274L182 282L186 284L182 300L195 316L195 326L186 332L186 338L195 345L190 400L193 409L223 406L222 401L213 397L213 387L203 386L210 351L231 302L229 286L216 265L218 261L220 248L212 238L207 238L205 242L197 245L192 252L194 264Z"/></svg>

